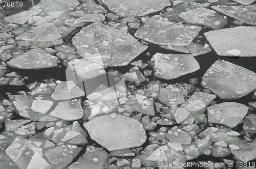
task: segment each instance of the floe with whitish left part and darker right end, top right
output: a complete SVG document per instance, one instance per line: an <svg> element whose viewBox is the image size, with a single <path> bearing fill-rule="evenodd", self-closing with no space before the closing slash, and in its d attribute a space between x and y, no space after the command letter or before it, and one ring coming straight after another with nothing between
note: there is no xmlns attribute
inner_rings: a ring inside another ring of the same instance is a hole
<svg viewBox="0 0 256 169"><path fill-rule="evenodd" d="M221 29L227 24L227 19L224 19L222 15L214 10L207 8L197 8L182 12L179 14L179 17L187 23L204 25L213 29Z"/></svg>

